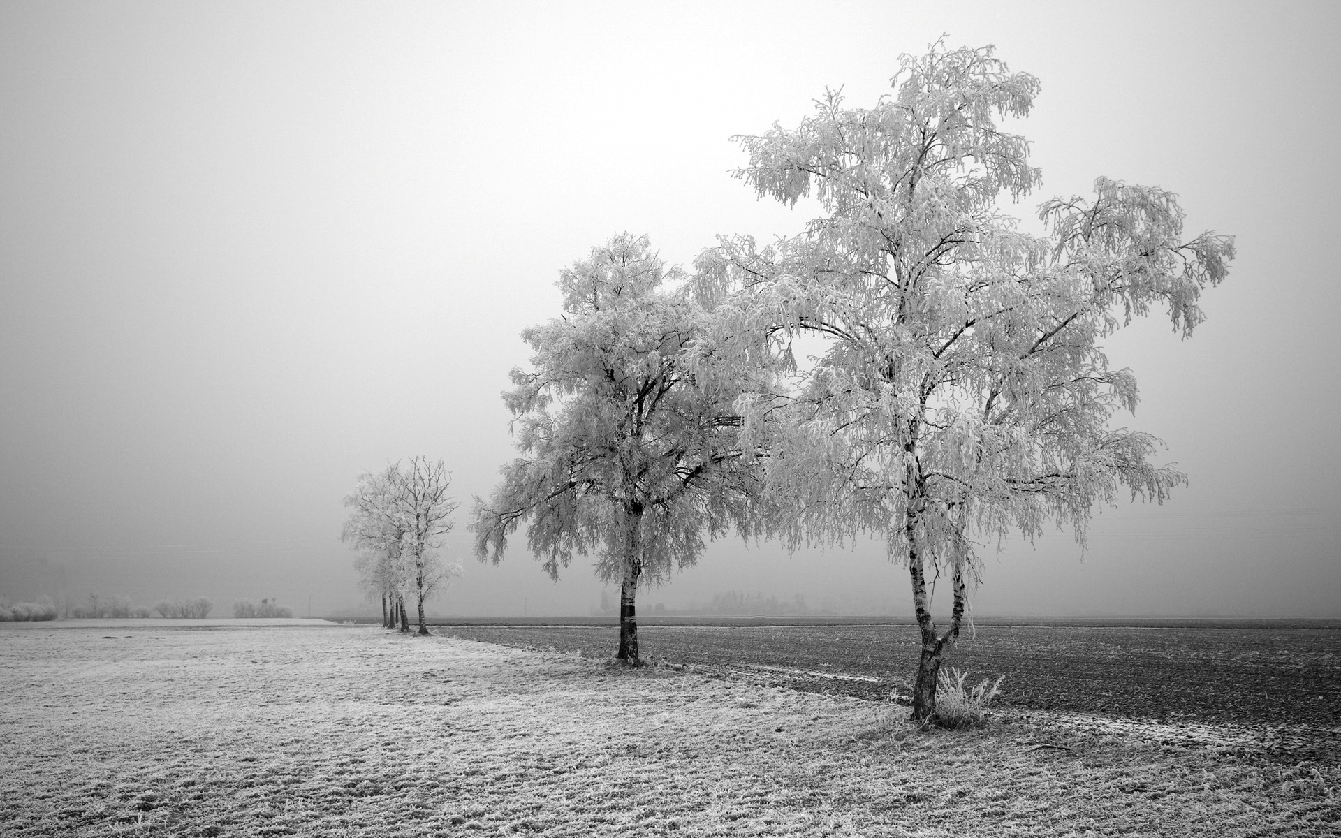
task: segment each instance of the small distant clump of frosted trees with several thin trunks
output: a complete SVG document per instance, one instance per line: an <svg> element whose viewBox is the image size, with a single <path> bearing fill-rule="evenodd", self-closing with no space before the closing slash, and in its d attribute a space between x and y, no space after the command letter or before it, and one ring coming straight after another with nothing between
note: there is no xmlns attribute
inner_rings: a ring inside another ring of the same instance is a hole
<svg viewBox="0 0 1341 838"><path fill-rule="evenodd" d="M418 606L418 633L424 602L460 574L459 562L444 562L443 536L455 526L451 515L459 503L448 487L452 475L441 460L412 457L406 465L389 463L375 473L358 477L354 493L345 497L349 518L341 539L359 551L355 567L363 591L382 603L382 625L409 632L405 593Z"/></svg>

